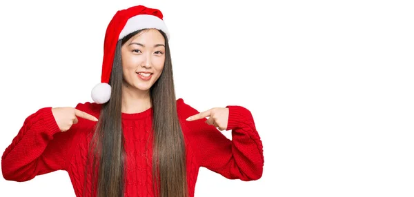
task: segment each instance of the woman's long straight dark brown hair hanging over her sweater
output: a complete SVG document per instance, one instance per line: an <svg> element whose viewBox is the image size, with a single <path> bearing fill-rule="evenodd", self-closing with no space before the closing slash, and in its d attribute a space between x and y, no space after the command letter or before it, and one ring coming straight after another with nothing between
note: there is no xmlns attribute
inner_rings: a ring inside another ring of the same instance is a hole
<svg viewBox="0 0 414 197"><path fill-rule="evenodd" d="M112 87L110 100L101 106L96 131L90 141L89 155L93 156L91 192L96 186L97 196L124 196L126 154L121 126L121 47L139 32L141 30L132 32L117 43L109 81ZM177 116L170 48L166 34L159 32L166 40L166 59L159 79L150 87L153 110L152 186L156 196L184 197L188 196L186 149ZM86 175L87 170L88 167Z"/></svg>

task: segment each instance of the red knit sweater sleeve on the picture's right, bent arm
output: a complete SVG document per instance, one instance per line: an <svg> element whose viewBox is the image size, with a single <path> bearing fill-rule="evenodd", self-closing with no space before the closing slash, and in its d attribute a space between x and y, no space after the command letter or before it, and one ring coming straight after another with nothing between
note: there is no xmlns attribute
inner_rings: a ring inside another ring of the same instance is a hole
<svg viewBox="0 0 414 197"><path fill-rule="evenodd" d="M185 103L182 110L186 119L199 113ZM206 167L229 179L257 180L262 177L264 156L263 146L256 130L253 116L245 107L226 106L229 109L227 131L232 139L213 125L205 123L207 118L186 121L193 138L193 147L201 167Z"/></svg>

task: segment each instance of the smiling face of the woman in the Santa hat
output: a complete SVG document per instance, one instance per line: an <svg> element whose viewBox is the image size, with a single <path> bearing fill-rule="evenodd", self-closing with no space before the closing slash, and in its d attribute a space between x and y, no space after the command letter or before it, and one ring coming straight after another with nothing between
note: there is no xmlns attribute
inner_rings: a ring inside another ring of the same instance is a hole
<svg viewBox="0 0 414 197"><path fill-rule="evenodd" d="M122 70L130 87L149 90L157 81L166 59L164 43L162 34L151 29L139 32L122 46Z"/></svg>

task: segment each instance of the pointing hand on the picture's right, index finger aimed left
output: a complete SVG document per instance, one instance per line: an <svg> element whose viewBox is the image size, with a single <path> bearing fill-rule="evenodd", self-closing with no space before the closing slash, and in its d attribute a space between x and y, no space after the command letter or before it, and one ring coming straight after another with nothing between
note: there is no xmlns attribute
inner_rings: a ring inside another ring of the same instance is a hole
<svg viewBox="0 0 414 197"><path fill-rule="evenodd" d="M200 112L199 114L195 114L193 116L190 116L186 119L186 121L195 121L199 120L201 118L208 118L206 123L208 125L214 125L215 127L218 127L220 131L227 129L227 123L228 123L228 108L227 107L214 107L210 110Z"/></svg>

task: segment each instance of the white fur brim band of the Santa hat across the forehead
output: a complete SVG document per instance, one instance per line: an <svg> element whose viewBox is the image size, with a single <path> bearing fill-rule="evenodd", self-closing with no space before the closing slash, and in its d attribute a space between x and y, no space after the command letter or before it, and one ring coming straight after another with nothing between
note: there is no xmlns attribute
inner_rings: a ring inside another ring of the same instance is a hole
<svg viewBox="0 0 414 197"><path fill-rule="evenodd" d="M168 28L166 23L163 20L149 14L140 14L135 17L131 17L126 21L124 29L122 29L121 33L119 34L118 39L124 38L126 35L135 32L137 30L155 28L157 30L161 30L167 35L167 39L170 39L170 33L168 32Z"/></svg>

